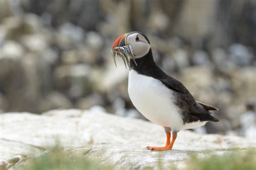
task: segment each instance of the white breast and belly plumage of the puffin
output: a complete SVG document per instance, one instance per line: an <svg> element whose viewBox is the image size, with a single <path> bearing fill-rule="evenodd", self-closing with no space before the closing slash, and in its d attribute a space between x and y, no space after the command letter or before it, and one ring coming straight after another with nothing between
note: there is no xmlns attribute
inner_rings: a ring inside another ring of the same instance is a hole
<svg viewBox="0 0 256 170"><path fill-rule="evenodd" d="M173 92L159 80L130 70L128 93L133 105L151 122L177 131L183 129Z"/></svg>

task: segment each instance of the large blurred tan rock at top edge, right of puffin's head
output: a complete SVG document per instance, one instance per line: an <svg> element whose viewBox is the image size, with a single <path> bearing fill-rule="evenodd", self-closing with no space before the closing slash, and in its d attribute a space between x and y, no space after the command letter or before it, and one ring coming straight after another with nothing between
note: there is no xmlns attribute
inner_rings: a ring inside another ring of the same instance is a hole
<svg viewBox="0 0 256 170"><path fill-rule="evenodd" d="M179 13L178 22L173 25L174 30L191 41L207 36L214 30L217 4L215 1L203 0L184 2L180 9L183 12Z"/></svg>

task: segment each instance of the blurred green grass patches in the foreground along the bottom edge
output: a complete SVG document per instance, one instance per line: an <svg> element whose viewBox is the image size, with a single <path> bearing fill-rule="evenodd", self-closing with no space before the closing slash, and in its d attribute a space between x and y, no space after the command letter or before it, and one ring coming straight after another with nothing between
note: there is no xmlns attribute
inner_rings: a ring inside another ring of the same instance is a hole
<svg viewBox="0 0 256 170"><path fill-rule="evenodd" d="M160 156L161 157L161 156ZM159 158L158 169L163 169L165 162ZM208 153L205 158L198 157L192 154L186 161L187 167L184 170L212 170L212 169L225 169L225 170L251 170L256 169L256 150L248 148L245 150L226 151L222 155L212 155ZM105 166L100 164L100 161L89 159L87 153L65 150L62 147L54 147L52 150L28 159L25 164L17 166L16 169L20 170L78 170L78 169L114 169L114 165ZM127 167L125 169L132 169ZM153 169L147 167L145 169ZM172 166L168 169L177 169Z"/></svg>

